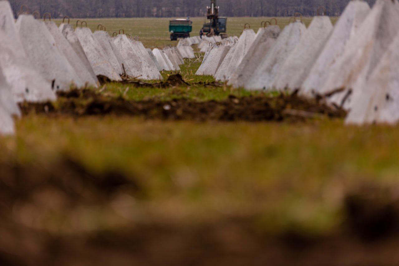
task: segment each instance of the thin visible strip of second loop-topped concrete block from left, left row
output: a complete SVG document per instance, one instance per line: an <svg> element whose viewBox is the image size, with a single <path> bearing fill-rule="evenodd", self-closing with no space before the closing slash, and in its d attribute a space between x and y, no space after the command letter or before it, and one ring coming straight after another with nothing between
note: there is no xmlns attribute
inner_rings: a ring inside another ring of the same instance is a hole
<svg viewBox="0 0 399 266"><path fill-rule="evenodd" d="M69 64L71 64L79 79L84 84L97 87L98 85L97 79L93 79L91 73L85 67L82 60L76 54L75 50L73 50L71 44L58 30L57 25L55 25L55 23L52 21L46 21L45 25L49 30L51 36L53 36L59 52L61 52L61 54L63 54L65 58L68 60Z"/></svg>

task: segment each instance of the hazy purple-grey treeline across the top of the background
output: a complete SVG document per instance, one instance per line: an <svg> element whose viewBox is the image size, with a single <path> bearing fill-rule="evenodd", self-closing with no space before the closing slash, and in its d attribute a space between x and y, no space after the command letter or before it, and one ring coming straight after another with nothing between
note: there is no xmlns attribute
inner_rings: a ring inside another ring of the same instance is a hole
<svg viewBox="0 0 399 266"><path fill-rule="evenodd" d="M221 16L314 16L320 6L330 16L342 13L349 0L218 0ZM366 0L370 5L375 0ZM10 0L17 14L22 4L53 18L130 18L204 16L210 0Z"/></svg>

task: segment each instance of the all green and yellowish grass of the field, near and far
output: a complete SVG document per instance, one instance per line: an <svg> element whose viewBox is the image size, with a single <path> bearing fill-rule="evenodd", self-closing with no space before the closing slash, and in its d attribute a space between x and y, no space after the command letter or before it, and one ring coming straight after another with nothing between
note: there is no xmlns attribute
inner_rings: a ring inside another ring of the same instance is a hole
<svg viewBox="0 0 399 266"><path fill-rule="evenodd" d="M246 22L258 28L265 19L230 18L228 33L238 35ZM199 31L202 19L193 20L194 32ZM280 25L287 21L279 18ZM176 44L168 40L168 19L87 22L92 30L105 25L110 34L124 28L152 47ZM187 80L196 79L192 72L199 63L193 62L186 60L182 67ZM225 85L158 89L117 83L107 84L103 93L136 101L259 94ZM245 217L259 235L295 231L325 236L341 232L349 219L348 195L371 187L385 204L396 199L398 189L397 127L348 127L341 119L328 118L251 123L32 113L17 120L16 132L0 140L6 164L52 169L67 157L90 173L111 169L139 184L139 195L121 189L112 200L78 206L67 206L62 196L53 198L46 191L43 199L48 201L32 196L33 203L22 208L31 219L18 214L16 203L10 214L14 222L55 235L113 232L154 221L192 225Z"/></svg>

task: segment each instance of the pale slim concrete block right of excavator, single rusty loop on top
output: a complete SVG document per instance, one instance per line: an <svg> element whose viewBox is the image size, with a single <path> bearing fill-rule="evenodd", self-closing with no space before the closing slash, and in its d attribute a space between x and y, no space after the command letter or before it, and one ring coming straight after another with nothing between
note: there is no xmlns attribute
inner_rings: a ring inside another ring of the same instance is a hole
<svg viewBox="0 0 399 266"><path fill-rule="evenodd" d="M230 76L234 73L235 69L241 64L245 54L248 52L255 39L255 32L252 29L245 29L243 34L241 34L239 41L236 44L234 54L231 58L230 64L226 69L225 76L229 80Z"/></svg>

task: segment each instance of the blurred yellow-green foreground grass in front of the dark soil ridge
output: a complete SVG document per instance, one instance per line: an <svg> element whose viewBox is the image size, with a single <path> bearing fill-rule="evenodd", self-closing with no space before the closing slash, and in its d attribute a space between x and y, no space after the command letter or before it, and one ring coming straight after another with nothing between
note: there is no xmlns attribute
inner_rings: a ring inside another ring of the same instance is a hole
<svg viewBox="0 0 399 266"><path fill-rule="evenodd" d="M94 173L117 169L138 180L146 196L128 211L139 212L140 221L256 215L261 230L328 232L342 222L346 193L370 182L395 185L399 173L399 129L346 127L340 120L28 115L17 122L17 132L0 141L0 150L22 164L51 165L68 155Z"/></svg>

